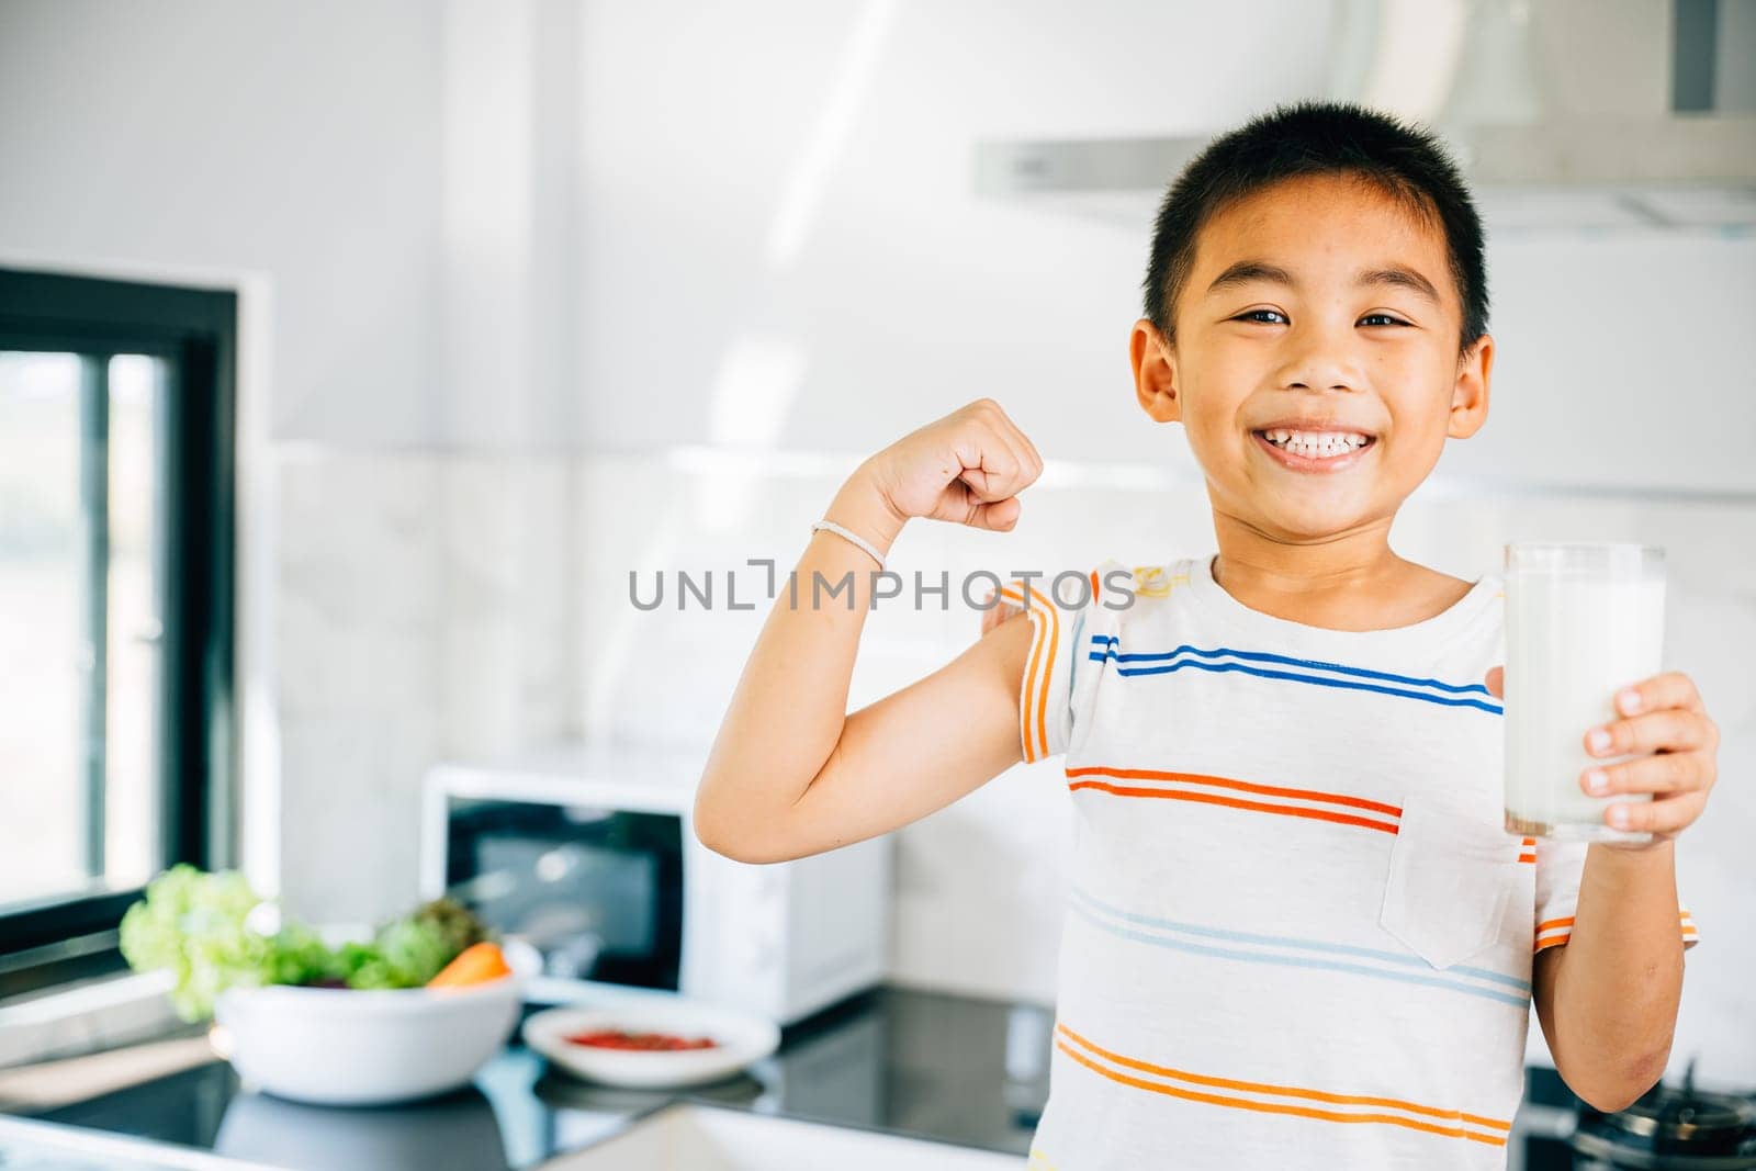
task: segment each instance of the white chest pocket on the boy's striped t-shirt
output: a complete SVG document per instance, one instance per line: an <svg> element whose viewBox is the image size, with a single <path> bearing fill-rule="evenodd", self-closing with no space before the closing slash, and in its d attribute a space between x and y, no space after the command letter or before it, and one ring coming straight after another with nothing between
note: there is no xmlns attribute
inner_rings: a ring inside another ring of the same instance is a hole
<svg viewBox="0 0 1756 1171"><path fill-rule="evenodd" d="M1403 806L1378 925L1433 967L1500 938L1517 881L1517 850L1493 823L1431 799Z"/></svg>

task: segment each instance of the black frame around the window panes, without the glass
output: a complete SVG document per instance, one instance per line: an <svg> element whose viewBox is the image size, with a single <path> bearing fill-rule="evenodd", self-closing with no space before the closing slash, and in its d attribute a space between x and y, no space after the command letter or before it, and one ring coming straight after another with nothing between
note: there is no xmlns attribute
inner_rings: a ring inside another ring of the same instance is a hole
<svg viewBox="0 0 1756 1171"><path fill-rule="evenodd" d="M167 363L160 844L165 866L235 866L237 293L0 267L0 349L95 355L88 377L119 353ZM139 897L0 909L0 999L121 969L116 929Z"/></svg>

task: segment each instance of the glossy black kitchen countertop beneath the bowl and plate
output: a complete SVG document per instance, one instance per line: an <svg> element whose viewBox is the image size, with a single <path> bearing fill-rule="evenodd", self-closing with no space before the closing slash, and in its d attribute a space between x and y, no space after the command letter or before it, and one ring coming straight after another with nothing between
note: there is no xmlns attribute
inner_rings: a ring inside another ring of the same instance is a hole
<svg viewBox="0 0 1756 1171"><path fill-rule="evenodd" d="M534 1167L676 1099L1024 1155L1052 1027L1043 1006L882 987L785 1029L750 1071L688 1090L588 1085L511 1045L471 1087L407 1106L290 1103L214 1059L28 1117L300 1171ZM33 1164L7 1162L0 1139L0 1166Z"/></svg>

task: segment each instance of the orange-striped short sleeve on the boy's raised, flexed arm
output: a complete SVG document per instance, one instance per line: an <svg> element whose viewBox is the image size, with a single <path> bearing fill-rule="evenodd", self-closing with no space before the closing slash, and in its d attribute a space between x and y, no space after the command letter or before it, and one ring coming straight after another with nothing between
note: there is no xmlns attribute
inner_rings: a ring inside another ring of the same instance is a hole
<svg viewBox="0 0 1756 1171"><path fill-rule="evenodd" d="M1119 576L1120 574L1120 576ZM1027 762L1059 757L1089 716L1103 662L1115 655L1120 613L1133 600L1133 574L1115 558L1080 574L1068 571L1008 581L1001 597L1031 614L1031 651L1018 683L1018 741Z"/></svg>

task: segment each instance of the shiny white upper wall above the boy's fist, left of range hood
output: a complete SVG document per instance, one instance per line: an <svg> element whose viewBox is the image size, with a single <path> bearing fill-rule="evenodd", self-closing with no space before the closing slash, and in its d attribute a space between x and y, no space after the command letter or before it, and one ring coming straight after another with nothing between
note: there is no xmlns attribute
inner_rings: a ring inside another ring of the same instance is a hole
<svg viewBox="0 0 1756 1171"><path fill-rule="evenodd" d="M1078 400L1064 453L1113 455L1122 406L1094 392L1126 369L1143 241L978 198L975 139L1198 130L1326 68L1321 4L587 12L594 449L848 449L1004 392L1040 428Z"/></svg>

